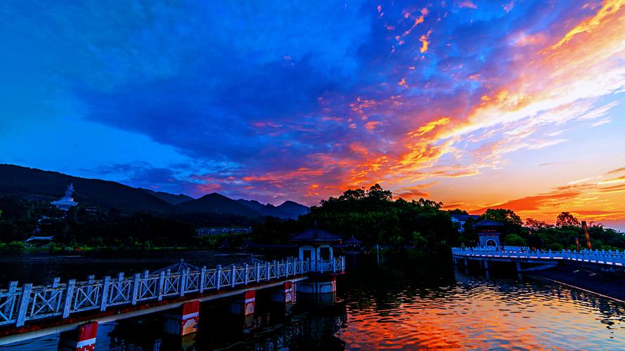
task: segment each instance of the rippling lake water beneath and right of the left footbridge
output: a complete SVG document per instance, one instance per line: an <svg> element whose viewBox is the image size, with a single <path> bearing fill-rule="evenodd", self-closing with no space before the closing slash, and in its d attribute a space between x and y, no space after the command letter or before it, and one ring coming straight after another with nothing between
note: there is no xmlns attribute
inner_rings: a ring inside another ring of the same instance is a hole
<svg viewBox="0 0 625 351"><path fill-rule="evenodd" d="M404 259L378 267L349 260L336 296L328 297L335 303L300 294L291 316L283 317L280 306L257 297L263 327L254 333L243 333L236 319L220 318L224 305L208 305L198 336L182 343L191 350L625 349L625 305L527 276L467 275L448 261ZM153 319L99 326L97 348L181 349L181 341L163 343L162 324ZM57 340L49 336L11 349L56 350Z"/></svg>

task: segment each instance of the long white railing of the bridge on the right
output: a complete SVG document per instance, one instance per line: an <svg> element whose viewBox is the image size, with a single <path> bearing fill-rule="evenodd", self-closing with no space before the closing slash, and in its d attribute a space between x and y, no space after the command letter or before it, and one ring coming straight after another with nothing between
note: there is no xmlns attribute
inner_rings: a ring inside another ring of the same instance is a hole
<svg viewBox="0 0 625 351"><path fill-rule="evenodd" d="M482 256L494 258L533 258L550 260L574 260L579 262L598 263L603 265L625 265L625 251L612 250L580 250L580 251L543 251L531 250L527 247L505 246L500 248L452 248L451 253L457 256Z"/></svg>

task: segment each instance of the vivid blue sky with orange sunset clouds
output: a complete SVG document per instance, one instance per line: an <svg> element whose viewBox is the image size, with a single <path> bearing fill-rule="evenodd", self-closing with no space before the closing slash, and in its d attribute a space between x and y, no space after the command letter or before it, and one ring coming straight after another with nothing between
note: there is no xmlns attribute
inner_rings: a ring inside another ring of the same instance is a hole
<svg viewBox="0 0 625 351"><path fill-rule="evenodd" d="M0 163L625 230L625 0L0 2Z"/></svg>

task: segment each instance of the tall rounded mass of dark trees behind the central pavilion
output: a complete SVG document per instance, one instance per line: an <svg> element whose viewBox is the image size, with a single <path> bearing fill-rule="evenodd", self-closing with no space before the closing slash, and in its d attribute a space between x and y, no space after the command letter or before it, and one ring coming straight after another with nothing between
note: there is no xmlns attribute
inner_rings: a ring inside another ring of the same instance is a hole
<svg viewBox="0 0 625 351"><path fill-rule="evenodd" d="M352 234L365 245L416 246L437 251L458 244L456 230L442 204L427 199L406 201L392 199L392 193L376 184L368 190L347 190L340 197L321 201L309 214L298 220L267 219L260 225L254 241L286 242L288 234L318 225L325 230L349 237Z"/></svg>

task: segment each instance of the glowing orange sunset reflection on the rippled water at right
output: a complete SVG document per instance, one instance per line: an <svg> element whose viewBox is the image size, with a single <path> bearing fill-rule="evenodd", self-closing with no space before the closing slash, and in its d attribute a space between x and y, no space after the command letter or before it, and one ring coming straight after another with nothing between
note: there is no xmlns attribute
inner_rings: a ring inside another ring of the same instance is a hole
<svg viewBox="0 0 625 351"><path fill-rule="evenodd" d="M619 345L621 336L620 342L625 342L625 326L619 320L624 305L606 305L605 300L555 284L546 289L527 283L472 285L442 291L407 289L366 306L348 303L347 328L337 336L349 350L592 349L598 347L597 340L606 341L606 325L614 323L614 340L607 341ZM602 316L602 309L610 310L612 317ZM612 322L603 324L606 318Z"/></svg>

